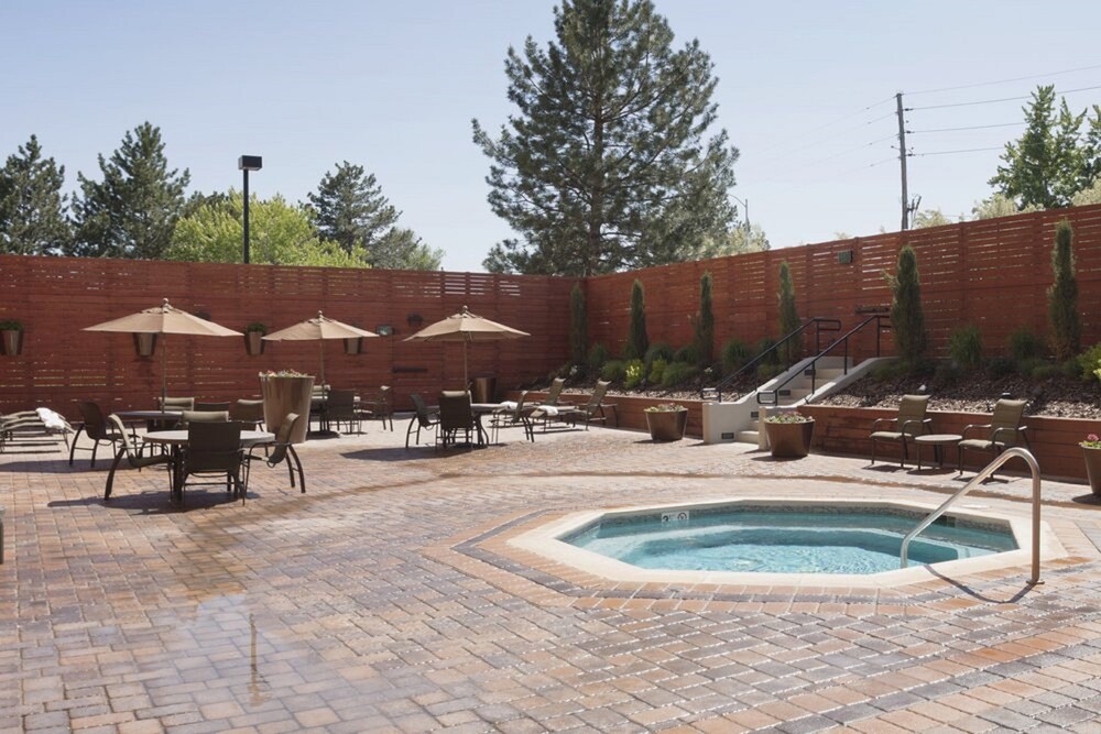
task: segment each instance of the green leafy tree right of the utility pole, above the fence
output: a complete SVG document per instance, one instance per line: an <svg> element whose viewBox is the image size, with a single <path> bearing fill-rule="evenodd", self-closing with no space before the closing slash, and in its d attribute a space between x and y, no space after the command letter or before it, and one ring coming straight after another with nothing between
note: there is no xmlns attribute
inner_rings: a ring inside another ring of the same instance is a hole
<svg viewBox="0 0 1101 734"><path fill-rule="evenodd" d="M1089 188L1101 173L1101 107L1094 105L1084 136L1087 110L1076 114L1061 100L1055 107L1055 86L1042 86L1023 108L1025 132L1006 143L1004 165L990 179L999 193L1026 207L1066 207L1073 195Z"/></svg>

